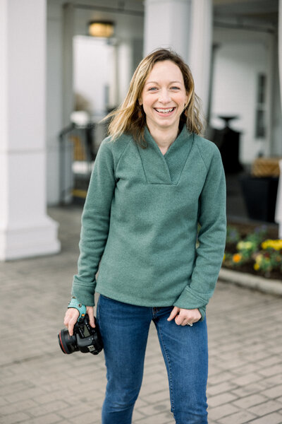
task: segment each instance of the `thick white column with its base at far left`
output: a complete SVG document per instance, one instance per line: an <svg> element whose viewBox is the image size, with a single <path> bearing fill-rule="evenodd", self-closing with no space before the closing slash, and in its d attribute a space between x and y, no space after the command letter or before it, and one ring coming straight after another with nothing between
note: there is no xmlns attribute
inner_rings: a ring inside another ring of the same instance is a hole
<svg viewBox="0 0 282 424"><path fill-rule="evenodd" d="M0 260L58 252L46 213L45 0L0 0Z"/></svg>

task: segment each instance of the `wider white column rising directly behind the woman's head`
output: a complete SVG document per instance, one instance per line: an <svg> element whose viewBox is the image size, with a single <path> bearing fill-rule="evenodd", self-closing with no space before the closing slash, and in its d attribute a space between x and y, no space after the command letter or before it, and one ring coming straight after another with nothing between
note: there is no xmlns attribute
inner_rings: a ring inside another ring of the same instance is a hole
<svg viewBox="0 0 282 424"><path fill-rule="evenodd" d="M190 0L146 0L144 54L171 47L185 61L190 35Z"/></svg>

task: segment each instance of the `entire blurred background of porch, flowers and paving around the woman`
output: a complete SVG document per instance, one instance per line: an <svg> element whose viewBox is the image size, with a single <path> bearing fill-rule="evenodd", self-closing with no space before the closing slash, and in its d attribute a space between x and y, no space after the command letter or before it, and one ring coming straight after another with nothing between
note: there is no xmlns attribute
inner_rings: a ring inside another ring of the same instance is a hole
<svg viewBox="0 0 282 424"><path fill-rule="evenodd" d="M209 423L282 423L282 0L0 0L1 423L101 423L104 355L56 334L101 120L157 47L189 64L226 172ZM152 329L133 423L173 421L159 353Z"/></svg>

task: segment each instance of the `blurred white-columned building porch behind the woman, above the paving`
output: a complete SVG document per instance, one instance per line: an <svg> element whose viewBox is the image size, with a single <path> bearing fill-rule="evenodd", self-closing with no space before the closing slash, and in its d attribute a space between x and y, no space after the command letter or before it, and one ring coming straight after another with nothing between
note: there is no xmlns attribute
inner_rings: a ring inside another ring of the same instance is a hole
<svg viewBox="0 0 282 424"><path fill-rule="evenodd" d="M281 15L278 0L1 0L0 260L59 252L47 207L83 204L101 119L157 47L195 77L228 220L277 228Z"/></svg>

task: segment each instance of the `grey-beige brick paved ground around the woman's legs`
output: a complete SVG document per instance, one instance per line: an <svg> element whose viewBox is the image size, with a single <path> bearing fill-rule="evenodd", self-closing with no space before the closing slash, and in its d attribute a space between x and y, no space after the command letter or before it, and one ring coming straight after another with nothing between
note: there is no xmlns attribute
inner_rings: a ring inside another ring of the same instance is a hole
<svg viewBox="0 0 282 424"><path fill-rule="evenodd" d="M62 252L0 264L0 423L99 424L103 354L63 355L57 332L78 258L80 208L51 208ZM282 298L219 283L208 308L209 424L282 423ZM136 424L172 424L157 336L149 336Z"/></svg>

